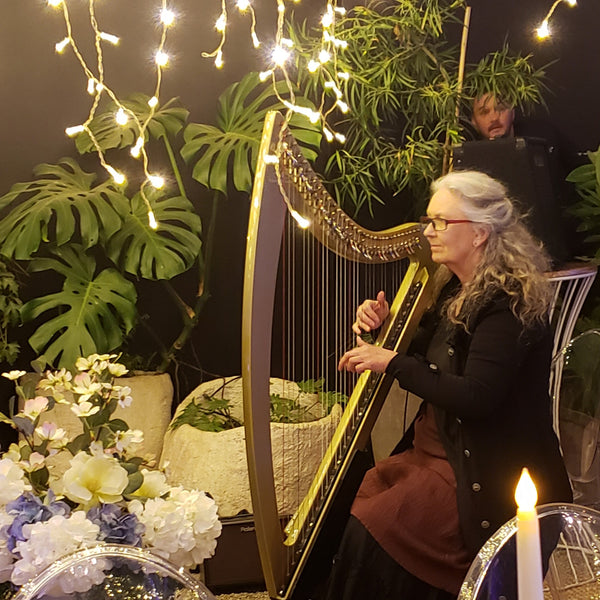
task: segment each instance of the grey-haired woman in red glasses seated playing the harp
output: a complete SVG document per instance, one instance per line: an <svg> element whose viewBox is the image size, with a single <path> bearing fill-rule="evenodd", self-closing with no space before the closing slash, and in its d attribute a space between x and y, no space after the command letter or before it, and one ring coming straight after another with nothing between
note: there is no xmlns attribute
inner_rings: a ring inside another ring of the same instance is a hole
<svg viewBox="0 0 600 600"><path fill-rule="evenodd" d="M339 369L393 375L423 398L395 453L367 472L329 582L330 600L455 597L470 562L515 513L523 467L540 503L571 501L552 429L548 258L505 188L478 172L432 185L421 219L450 277L411 352L357 346ZM358 308L357 334L387 316Z"/></svg>

